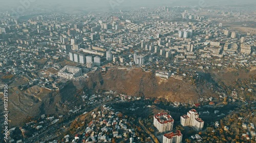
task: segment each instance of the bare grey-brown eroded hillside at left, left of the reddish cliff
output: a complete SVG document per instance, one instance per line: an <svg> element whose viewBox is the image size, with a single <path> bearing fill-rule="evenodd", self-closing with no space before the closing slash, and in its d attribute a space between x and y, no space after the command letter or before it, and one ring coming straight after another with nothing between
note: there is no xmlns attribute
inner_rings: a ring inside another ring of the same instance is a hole
<svg viewBox="0 0 256 143"><path fill-rule="evenodd" d="M68 84L69 88L60 92L49 91L38 86L25 91L20 91L17 87L10 89L8 102L10 127L19 126L28 118L38 117L42 114L63 115L68 111L68 107L64 105L79 100L75 97L76 88L70 84L72 83ZM3 101L3 95L0 96L0 100ZM3 104L0 104L0 107L3 109Z"/></svg>

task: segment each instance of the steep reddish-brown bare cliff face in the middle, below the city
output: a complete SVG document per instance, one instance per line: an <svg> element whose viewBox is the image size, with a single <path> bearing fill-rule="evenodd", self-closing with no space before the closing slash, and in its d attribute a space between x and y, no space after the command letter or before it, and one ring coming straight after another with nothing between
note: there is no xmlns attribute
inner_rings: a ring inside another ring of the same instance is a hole
<svg viewBox="0 0 256 143"><path fill-rule="evenodd" d="M100 72L89 74L86 81L89 90L113 90L132 96L165 98L177 102L197 102L203 96L216 96L203 83L191 84L187 79L156 77L154 73L141 69L110 69L103 76Z"/></svg>

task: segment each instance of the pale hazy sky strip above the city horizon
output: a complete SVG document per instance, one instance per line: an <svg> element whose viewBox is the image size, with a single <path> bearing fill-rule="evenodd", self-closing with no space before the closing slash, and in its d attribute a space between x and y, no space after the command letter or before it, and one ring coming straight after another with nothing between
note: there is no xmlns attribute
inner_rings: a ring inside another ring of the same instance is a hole
<svg viewBox="0 0 256 143"><path fill-rule="evenodd" d="M256 4L255 0L0 0L0 9L26 9L49 7L65 7L77 9L122 9L156 6L199 6L227 4ZM25 6L24 6L25 5Z"/></svg>

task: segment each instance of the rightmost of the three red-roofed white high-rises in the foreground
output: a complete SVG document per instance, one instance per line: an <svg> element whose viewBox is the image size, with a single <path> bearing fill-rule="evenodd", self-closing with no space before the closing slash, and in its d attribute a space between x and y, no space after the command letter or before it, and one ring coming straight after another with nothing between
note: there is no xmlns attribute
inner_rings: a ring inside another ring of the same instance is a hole
<svg viewBox="0 0 256 143"><path fill-rule="evenodd" d="M195 109L191 109L187 112L187 115L181 116L180 123L182 126L192 126L198 131L204 127L204 121L199 118L198 112Z"/></svg>

